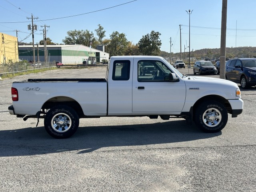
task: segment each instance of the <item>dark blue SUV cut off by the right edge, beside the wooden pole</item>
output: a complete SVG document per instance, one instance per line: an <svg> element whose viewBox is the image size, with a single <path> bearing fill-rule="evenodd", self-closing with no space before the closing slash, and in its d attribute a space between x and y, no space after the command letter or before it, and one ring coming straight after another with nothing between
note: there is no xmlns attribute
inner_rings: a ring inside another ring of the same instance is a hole
<svg viewBox="0 0 256 192"><path fill-rule="evenodd" d="M243 89L256 86L256 58L228 60L225 67L227 80L240 82Z"/></svg>

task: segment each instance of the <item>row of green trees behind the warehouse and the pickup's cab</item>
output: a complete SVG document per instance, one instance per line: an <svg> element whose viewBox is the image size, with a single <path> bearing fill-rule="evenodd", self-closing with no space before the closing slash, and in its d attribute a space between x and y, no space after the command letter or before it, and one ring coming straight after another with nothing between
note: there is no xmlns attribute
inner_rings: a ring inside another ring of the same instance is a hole
<svg viewBox="0 0 256 192"><path fill-rule="evenodd" d="M97 45L104 45L105 52L110 56L120 55L159 55L160 47L162 45L160 40L160 33L152 30L150 34L142 36L138 43L133 44L128 41L126 34L117 31L112 32L109 38L106 38L106 31L98 24L98 28L94 32L89 30L71 30L67 32L67 36L62 40L65 45L81 44L84 46L96 48ZM46 40L48 45L58 44L52 42L50 38ZM20 45L32 45L30 43L19 42ZM40 45L44 44L41 40Z"/></svg>

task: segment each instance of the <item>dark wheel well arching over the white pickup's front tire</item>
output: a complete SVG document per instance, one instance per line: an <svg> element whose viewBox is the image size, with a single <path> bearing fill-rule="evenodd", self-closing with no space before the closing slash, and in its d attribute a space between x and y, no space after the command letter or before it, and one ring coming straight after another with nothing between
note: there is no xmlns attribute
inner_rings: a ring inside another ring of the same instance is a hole
<svg viewBox="0 0 256 192"><path fill-rule="evenodd" d="M226 100L222 96L219 96L219 95L207 95L207 96L204 96L204 97L202 97L202 98L200 98L199 100L196 101L196 103L193 106L193 114L195 113L196 108L198 107L198 105L200 103L206 101L206 100L214 100L214 101L222 103L225 106L225 108L228 111L228 113L230 113L231 110L232 110L231 105L228 102L228 100Z"/></svg>

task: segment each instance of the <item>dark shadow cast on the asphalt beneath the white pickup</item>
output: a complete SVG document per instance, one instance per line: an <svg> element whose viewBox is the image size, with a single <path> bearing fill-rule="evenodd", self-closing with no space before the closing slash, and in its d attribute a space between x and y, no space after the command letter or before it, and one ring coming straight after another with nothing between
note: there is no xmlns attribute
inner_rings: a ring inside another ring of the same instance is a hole
<svg viewBox="0 0 256 192"><path fill-rule="evenodd" d="M153 124L79 127L77 132L67 139L52 138L43 126L28 127L0 131L0 156L28 156L75 150L81 154L100 148L102 150L105 147L120 147L118 150L132 149L133 146L174 144L213 138L221 134L221 132L203 133L194 125L186 125L185 120Z"/></svg>

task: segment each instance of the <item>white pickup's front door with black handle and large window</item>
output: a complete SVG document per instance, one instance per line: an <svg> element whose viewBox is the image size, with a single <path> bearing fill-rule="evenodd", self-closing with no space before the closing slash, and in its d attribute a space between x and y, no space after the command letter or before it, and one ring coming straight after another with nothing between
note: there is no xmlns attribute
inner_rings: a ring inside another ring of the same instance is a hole
<svg viewBox="0 0 256 192"><path fill-rule="evenodd" d="M151 63L155 73L139 73L143 63ZM137 69L135 69L137 68ZM172 71L159 60L134 58L132 84L132 114L179 114L184 106L186 86L179 82L164 80Z"/></svg>

